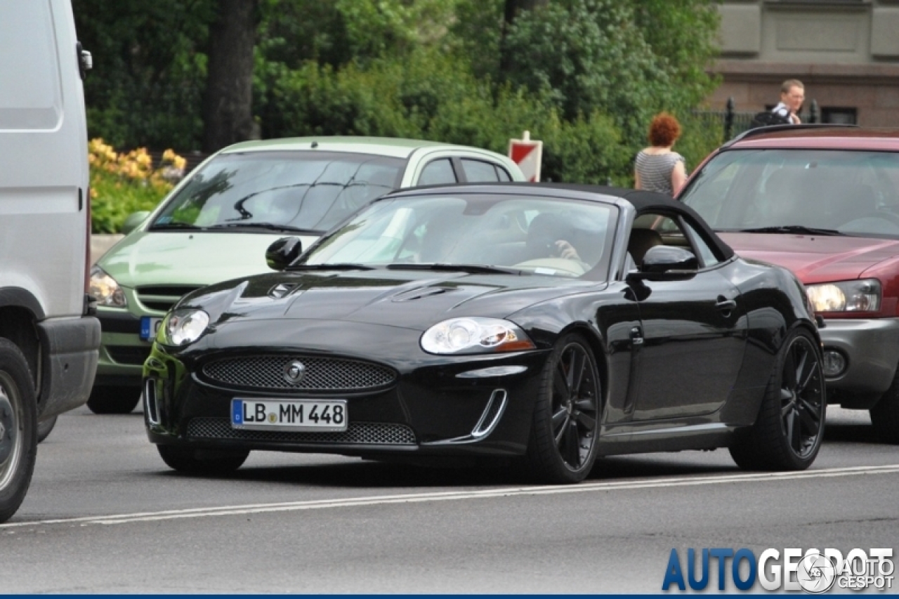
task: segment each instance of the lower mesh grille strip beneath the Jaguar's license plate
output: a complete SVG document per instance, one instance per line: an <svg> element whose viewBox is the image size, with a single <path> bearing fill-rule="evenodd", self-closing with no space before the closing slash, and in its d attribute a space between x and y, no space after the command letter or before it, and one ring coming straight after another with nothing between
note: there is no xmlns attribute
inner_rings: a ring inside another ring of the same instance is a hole
<svg viewBox="0 0 899 599"><path fill-rule="evenodd" d="M414 445L415 434L406 425L353 422L343 433L287 433L231 428L227 418L192 418L187 425L192 439L271 441L272 443L347 443L357 445Z"/></svg>

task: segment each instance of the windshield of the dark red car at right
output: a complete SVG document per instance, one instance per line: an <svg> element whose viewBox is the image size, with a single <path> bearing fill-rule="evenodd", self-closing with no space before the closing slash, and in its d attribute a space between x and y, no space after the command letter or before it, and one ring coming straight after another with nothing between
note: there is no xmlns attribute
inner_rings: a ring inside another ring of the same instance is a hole
<svg viewBox="0 0 899 599"><path fill-rule="evenodd" d="M899 237L899 152L726 150L681 201L717 231Z"/></svg>

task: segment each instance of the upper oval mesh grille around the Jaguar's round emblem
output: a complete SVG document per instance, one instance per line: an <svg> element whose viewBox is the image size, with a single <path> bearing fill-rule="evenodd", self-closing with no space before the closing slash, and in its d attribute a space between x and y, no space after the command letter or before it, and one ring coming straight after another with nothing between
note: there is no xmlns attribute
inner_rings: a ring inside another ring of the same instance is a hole
<svg viewBox="0 0 899 599"><path fill-rule="evenodd" d="M301 362L305 375L290 382L284 373L292 362ZM385 387L396 373L385 366L345 358L261 355L225 358L203 366L203 374L218 383L253 389L304 391L361 390Z"/></svg>

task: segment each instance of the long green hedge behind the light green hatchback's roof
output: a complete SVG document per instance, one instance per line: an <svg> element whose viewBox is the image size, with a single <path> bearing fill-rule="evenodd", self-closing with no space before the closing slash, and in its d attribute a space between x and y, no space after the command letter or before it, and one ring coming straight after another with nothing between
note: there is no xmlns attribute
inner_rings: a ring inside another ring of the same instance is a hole
<svg viewBox="0 0 899 599"><path fill-rule="evenodd" d="M600 112L564 121L548 90L526 92L477 79L458 60L418 51L340 70L307 62L272 69L263 133L432 139L505 153L524 130L542 139L542 178L626 184L632 148Z"/></svg>

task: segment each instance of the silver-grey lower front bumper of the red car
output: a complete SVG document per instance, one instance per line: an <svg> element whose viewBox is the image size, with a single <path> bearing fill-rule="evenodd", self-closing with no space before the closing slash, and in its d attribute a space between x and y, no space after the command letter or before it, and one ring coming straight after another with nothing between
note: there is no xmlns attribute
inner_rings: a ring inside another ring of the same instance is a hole
<svg viewBox="0 0 899 599"><path fill-rule="evenodd" d="M848 362L841 375L826 380L828 388L852 394L886 391L899 363L899 318L830 318L824 324L824 351L836 350Z"/></svg>

